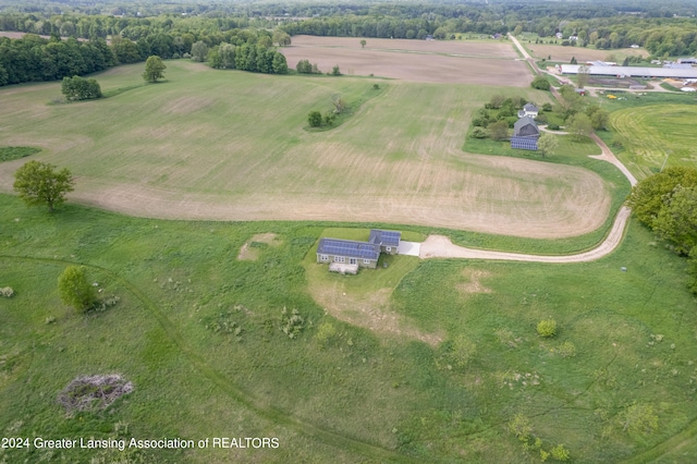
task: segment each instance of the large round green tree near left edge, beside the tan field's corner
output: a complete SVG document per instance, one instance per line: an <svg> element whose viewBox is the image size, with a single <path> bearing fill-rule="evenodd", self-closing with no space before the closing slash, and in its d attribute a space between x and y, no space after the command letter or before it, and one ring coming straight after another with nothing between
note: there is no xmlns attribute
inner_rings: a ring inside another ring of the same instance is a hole
<svg viewBox="0 0 697 464"><path fill-rule="evenodd" d="M74 185L71 172L53 164L29 161L14 173L14 190L28 206L48 205L49 212L65 202L65 194Z"/></svg>

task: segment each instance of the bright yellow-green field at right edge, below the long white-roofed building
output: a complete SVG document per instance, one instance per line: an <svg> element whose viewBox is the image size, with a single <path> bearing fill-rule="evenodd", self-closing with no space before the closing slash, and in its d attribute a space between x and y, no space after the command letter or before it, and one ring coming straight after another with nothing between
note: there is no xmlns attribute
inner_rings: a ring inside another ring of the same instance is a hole
<svg viewBox="0 0 697 464"><path fill-rule="evenodd" d="M639 178L665 166L697 167L697 107L650 105L614 111L612 129L621 136L620 159Z"/></svg>

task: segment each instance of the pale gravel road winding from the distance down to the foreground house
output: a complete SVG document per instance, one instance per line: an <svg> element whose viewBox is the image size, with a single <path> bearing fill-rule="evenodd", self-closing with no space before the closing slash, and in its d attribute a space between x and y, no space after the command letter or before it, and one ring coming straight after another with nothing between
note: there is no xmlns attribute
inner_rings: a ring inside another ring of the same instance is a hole
<svg viewBox="0 0 697 464"><path fill-rule="evenodd" d="M521 53L525 57L525 59L531 64L533 70L539 73L539 69L535 64L535 60L525 51L525 49L521 46L517 39L511 35L509 35L513 44L521 50ZM553 87L552 87L553 88ZM554 93L553 93L554 94ZM559 98L559 95L555 95ZM628 179L632 185L636 184L636 178L632 175L629 170L622 164L622 162L614 156L612 150L606 145L604 142L600 139L596 134L591 135L591 138L600 149L602 150L601 155L591 156L591 158L600 159L603 161L608 161L620 169L622 173ZM421 259L427 258L466 258L466 259L496 259L496 260L506 260L506 261L528 261L528 262L586 262L592 261L596 259L600 259L603 256L612 253L622 242L622 237L624 236L624 230L627 225L627 220L632 215L632 210L623 206L617 216L615 217L614 223L612 224L612 229L610 229L610 233L606 237L606 240L600 243L597 247L589 249L587 252L578 253L576 255L557 255L557 256L548 256L548 255L525 255L518 253L506 253L506 252L493 252L488 249L476 249L476 248L467 248L464 246L454 245L449 237L443 235L429 235L424 243L421 243L419 257Z"/></svg>

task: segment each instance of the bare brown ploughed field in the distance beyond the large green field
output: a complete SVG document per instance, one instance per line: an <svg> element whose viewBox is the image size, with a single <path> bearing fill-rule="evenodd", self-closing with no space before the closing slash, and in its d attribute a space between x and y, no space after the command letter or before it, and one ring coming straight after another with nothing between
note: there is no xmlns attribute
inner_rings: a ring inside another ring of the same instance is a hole
<svg viewBox="0 0 697 464"><path fill-rule="evenodd" d="M370 39L360 48L356 38L293 37L284 47L289 66L301 60L322 72L339 65L343 74L375 75L409 82L527 87L531 73L515 60L510 42Z"/></svg>

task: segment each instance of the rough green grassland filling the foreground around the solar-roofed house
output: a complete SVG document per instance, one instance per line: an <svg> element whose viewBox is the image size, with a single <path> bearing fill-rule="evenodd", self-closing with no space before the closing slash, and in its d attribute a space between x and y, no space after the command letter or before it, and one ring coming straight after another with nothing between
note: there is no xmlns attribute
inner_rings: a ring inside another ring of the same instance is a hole
<svg viewBox="0 0 697 464"><path fill-rule="evenodd" d="M4 436L280 439L278 449L129 455L146 462L534 462L539 454L509 431L522 414L543 447L563 443L576 462L616 462L697 417L697 316L684 264L635 223L597 262L395 268L403 274L380 285L394 285L400 315L444 333L435 347L343 323L309 297L304 260L337 224L157 221L73 205L47 215L11 196L0 196L0 286L15 292L0 300ZM245 243L269 232L276 240L255 245L256 260L237 260ZM100 295L120 303L86 316L63 306L57 278L69 264L84 265ZM358 277L370 272L381 270ZM303 319L294 338L281 330L283 308ZM549 317L559 333L540 339L536 323ZM335 331L320 343L327 322ZM462 335L476 353L466 368L448 368L449 343ZM66 415L57 404L73 378L111 373L135 390L109 410ZM634 403L652 407L653 434L623 430ZM32 449L2 457L124 454Z"/></svg>

